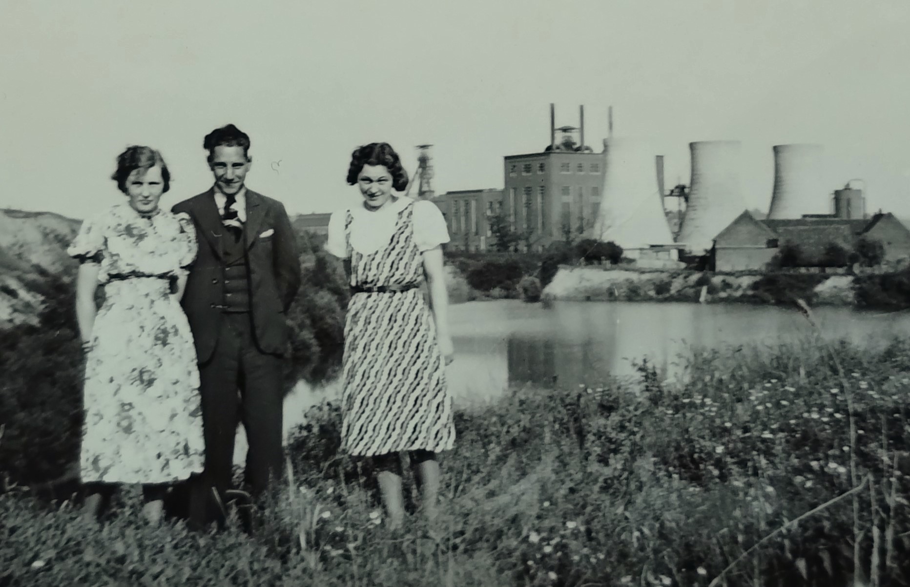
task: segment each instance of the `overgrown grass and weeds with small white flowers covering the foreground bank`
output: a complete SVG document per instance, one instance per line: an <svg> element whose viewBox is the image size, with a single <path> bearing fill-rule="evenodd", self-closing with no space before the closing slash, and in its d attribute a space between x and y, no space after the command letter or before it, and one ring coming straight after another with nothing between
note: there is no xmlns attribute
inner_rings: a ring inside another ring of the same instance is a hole
<svg viewBox="0 0 910 587"><path fill-rule="evenodd" d="M693 351L684 381L641 363L602 387L518 390L457 413L438 522L412 499L395 534L323 404L257 535L149 526L137 490L98 529L14 487L0 583L907 585L908 372L908 339L819 339Z"/></svg>

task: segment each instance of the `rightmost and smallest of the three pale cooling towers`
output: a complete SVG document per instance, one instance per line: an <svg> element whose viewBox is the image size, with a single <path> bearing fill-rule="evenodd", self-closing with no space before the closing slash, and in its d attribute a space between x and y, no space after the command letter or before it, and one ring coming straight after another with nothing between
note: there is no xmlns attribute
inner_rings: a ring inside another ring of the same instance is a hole
<svg viewBox="0 0 910 587"><path fill-rule="evenodd" d="M822 145L774 145L774 189L768 218L802 218L827 212L822 179Z"/></svg>

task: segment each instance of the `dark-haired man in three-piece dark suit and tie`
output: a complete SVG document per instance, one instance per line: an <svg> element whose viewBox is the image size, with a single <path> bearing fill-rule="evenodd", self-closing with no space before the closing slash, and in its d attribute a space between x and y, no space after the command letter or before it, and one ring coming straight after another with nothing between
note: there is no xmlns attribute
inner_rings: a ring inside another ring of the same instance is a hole
<svg viewBox="0 0 910 587"><path fill-rule="evenodd" d="M197 527L224 512L238 423L247 433L252 495L280 476L286 314L300 286L296 236L284 206L245 185L248 135L227 124L203 145L215 184L173 208L192 217L199 244L182 301L196 340L206 441L206 470L190 499Z"/></svg>

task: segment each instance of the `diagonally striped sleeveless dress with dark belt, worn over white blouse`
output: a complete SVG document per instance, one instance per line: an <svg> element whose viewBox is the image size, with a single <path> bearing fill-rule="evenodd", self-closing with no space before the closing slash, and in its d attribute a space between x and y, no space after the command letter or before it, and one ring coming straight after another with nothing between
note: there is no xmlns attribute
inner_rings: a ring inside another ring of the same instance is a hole
<svg viewBox="0 0 910 587"><path fill-rule="evenodd" d="M413 203L400 206L389 243L370 254L350 246L353 215L347 212L352 286L423 282L413 212ZM436 323L420 289L351 296L342 373L343 450L373 456L452 448L455 428L445 365Z"/></svg>

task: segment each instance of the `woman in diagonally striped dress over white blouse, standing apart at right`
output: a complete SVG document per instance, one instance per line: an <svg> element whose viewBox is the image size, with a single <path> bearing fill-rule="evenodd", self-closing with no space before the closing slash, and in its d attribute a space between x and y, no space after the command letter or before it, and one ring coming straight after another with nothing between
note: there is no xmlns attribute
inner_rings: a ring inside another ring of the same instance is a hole
<svg viewBox="0 0 910 587"><path fill-rule="evenodd" d="M404 518L399 453L410 453L421 505L436 513L436 453L455 440L445 366L452 361L440 244L449 242L436 204L396 197L408 185L385 143L359 147L348 184L362 204L332 214L329 253L345 260L351 298L342 367L342 447L372 457L389 527ZM420 289L426 281L428 304Z"/></svg>

